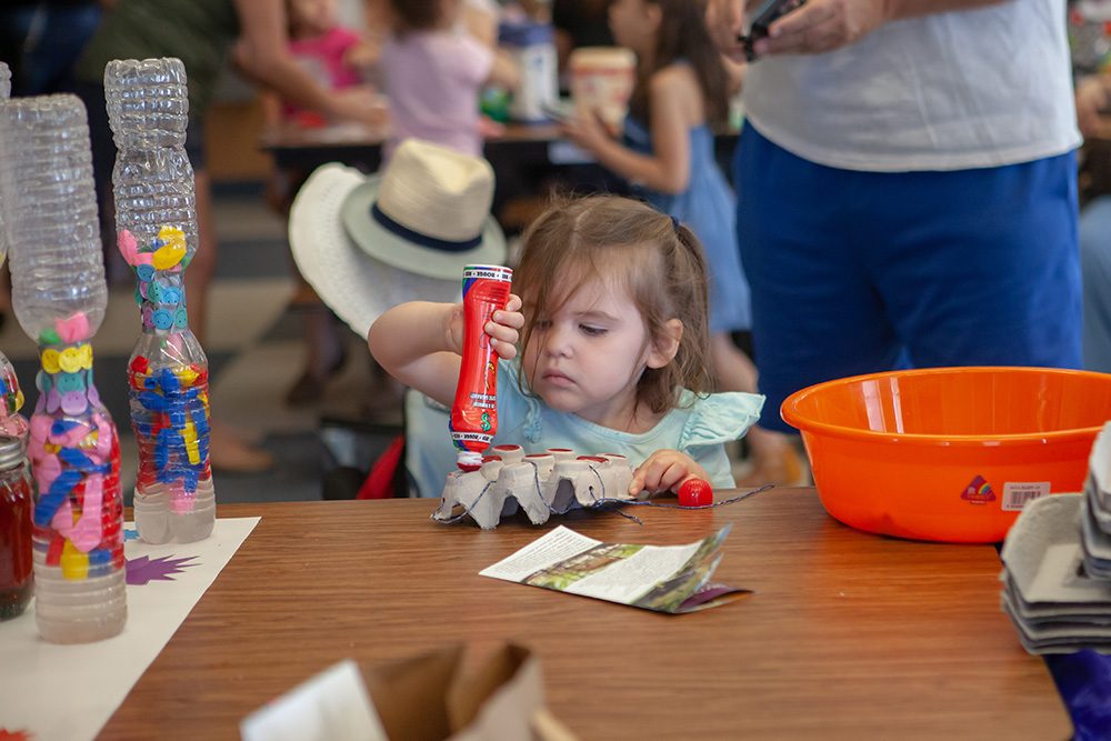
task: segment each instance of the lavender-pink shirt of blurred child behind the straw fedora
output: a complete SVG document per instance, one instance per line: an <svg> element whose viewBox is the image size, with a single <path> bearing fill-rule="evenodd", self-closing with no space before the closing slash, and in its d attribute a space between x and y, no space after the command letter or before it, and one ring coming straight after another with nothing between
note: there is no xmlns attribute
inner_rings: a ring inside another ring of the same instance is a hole
<svg viewBox="0 0 1111 741"><path fill-rule="evenodd" d="M493 52L451 31L412 31L391 37L382 49L393 137L383 159L409 137L482 156L479 93L490 77Z"/></svg>

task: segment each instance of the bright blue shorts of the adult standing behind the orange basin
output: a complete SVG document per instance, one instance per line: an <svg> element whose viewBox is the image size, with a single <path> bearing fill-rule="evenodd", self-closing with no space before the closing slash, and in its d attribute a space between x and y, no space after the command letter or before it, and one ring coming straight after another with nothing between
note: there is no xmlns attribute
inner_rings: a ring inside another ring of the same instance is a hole
<svg viewBox="0 0 1111 741"><path fill-rule="evenodd" d="M737 230L760 423L792 392L904 367L1079 368L1073 153L1000 168L859 172L745 126Z"/></svg>

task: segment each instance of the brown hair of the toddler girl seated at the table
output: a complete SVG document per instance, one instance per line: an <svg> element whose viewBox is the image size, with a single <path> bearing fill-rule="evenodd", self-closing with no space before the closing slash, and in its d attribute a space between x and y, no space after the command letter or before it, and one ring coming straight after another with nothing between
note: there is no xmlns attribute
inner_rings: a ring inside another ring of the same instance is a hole
<svg viewBox="0 0 1111 741"><path fill-rule="evenodd" d="M678 405L679 388L711 388L707 329L707 269L694 232L640 201L617 196L557 197L523 237L513 291L524 301L521 347L538 313L557 313L591 279L623 287L644 321L650 342L668 338L665 323L683 323L679 351L663 368L644 370L637 403L654 413ZM524 377L536 369L524 369Z"/></svg>

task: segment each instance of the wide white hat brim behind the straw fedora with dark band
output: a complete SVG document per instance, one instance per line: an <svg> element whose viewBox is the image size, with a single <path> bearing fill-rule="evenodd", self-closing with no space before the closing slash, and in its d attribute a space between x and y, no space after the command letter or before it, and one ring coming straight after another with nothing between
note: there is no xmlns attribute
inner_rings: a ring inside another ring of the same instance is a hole
<svg viewBox="0 0 1111 741"><path fill-rule="evenodd" d="M289 244L301 276L360 337L387 309L404 301L460 300L462 263L446 278L398 269L363 252L340 218L347 197L367 178L354 168L318 168L290 207Z"/></svg>

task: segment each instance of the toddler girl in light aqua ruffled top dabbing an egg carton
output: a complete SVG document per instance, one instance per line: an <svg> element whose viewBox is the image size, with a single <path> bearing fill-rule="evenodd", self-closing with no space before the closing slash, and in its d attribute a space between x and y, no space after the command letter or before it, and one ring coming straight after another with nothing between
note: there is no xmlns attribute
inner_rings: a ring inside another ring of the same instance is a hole
<svg viewBox="0 0 1111 741"><path fill-rule="evenodd" d="M644 203L598 196L554 203L523 241L520 298L486 327L502 359L494 444L624 454L638 467L632 493L677 490L690 477L732 487L723 443L759 418L763 399L707 393L707 274L694 234ZM399 380L452 402L461 304L400 304L368 341ZM423 482L413 472L424 495L443 487L454 453L438 469Z"/></svg>

